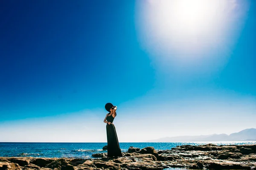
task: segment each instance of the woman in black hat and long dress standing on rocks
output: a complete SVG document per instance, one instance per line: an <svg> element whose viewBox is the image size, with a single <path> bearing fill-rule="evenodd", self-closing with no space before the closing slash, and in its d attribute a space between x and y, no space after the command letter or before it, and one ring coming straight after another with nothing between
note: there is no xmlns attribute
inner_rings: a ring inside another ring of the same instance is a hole
<svg viewBox="0 0 256 170"><path fill-rule="evenodd" d="M109 112L104 119L104 123L107 123L108 157L122 156L116 135L116 128L113 124L113 120L116 117L117 107L113 106L111 103L107 103L105 109Z"/></svg>

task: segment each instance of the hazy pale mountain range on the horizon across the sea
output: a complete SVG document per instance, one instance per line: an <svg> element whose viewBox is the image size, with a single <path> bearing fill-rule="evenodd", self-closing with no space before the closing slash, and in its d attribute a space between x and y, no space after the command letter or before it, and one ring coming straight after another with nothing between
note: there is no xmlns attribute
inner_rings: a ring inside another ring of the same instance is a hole
<svg viewBox="0 0 256 170"><path fill-rule="evenodd" d="M199 136L177 136L150 140L147 142L199 142L199 141L256 141L256 129L245 129L238 133Z"/></svg>

